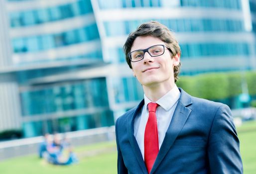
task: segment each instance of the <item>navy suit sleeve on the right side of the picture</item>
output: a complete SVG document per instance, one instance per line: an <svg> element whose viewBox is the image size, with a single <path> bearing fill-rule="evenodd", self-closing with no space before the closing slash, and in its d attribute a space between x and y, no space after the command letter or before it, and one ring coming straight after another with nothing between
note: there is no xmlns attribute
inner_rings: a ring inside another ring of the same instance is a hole
<svg viewBox="0 0 256 174"><path fill-rule="evenodd" d="M216 111L207 151L211 174L243 174L239 139L227 105L221 105Z"/></svg>

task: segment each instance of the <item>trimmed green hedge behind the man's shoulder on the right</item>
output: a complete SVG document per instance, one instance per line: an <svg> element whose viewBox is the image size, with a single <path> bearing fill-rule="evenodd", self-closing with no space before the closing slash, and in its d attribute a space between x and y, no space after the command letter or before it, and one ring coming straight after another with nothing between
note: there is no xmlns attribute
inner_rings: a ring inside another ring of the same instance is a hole
<svg viewBox="0 0 256 174"><path fill-rule="evenodd" d="M181 76L177 86L200 98L223 99L241 94L243 81L247 82L249 94L256 95L256 72Z"/></svg>

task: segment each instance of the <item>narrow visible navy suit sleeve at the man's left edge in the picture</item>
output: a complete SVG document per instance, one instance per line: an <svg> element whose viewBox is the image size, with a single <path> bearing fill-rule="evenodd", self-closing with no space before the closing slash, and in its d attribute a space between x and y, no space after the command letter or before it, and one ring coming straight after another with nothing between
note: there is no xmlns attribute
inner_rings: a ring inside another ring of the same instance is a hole
<svg viewBox="0 0 256 174"><path fill-rule="evenodd" d="M119 147L119 140L118 140L118 121L116 122L116 141L117 141L117 150L118 150L118 174L128 174L128 170L125 166L122 152Z"/></svg>

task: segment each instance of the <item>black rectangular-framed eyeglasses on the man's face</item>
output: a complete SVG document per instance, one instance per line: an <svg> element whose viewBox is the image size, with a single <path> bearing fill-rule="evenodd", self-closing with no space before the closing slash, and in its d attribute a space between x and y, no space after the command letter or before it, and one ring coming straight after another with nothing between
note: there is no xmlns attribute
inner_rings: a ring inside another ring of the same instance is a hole
<svg viewBox="0 0 256 174"><path fill-rule="evenodd" d="M147 52L151 57L157 57L164 54L165 45L153 45L144 50L135 50L128 54L131 62L138 62L144 58L145 52ZM166 47L167 48L167 47Z"/></svg>

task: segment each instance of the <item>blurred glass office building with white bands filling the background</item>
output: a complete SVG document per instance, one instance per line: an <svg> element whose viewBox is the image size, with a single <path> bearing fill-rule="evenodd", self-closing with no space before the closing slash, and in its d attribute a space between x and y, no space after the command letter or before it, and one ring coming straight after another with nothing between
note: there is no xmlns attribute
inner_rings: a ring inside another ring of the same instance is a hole
<svg viewBox="0 0 256 174"><path fill-rule="evenodd" d="M255 0L0 0L0 131L114 125L143 97L122 47L142 22L175 32L181 75L256 69Z"/></svg>

